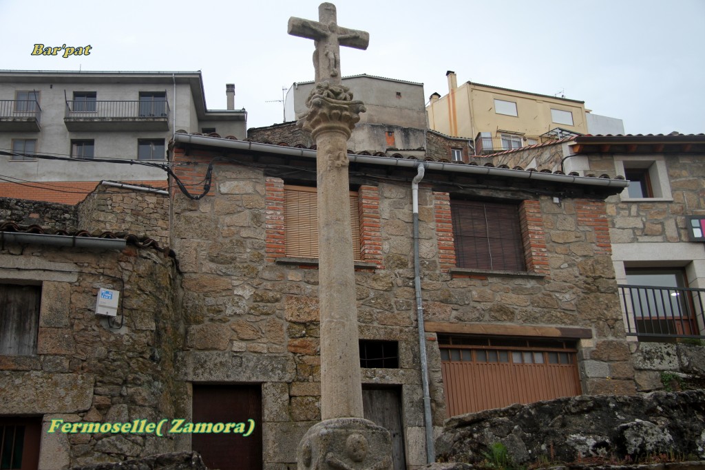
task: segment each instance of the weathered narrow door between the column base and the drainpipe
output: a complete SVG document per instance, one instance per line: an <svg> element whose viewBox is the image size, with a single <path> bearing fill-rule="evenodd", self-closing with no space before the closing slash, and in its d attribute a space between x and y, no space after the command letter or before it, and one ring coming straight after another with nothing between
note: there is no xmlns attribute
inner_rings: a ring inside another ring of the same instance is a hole
<svg viewBox="0 0 705 470"><path fill-rule="evenodd" d="M406 469L401 400L398 388L363 388L364 418L386 428L392 435L394 470Z"/></svg>

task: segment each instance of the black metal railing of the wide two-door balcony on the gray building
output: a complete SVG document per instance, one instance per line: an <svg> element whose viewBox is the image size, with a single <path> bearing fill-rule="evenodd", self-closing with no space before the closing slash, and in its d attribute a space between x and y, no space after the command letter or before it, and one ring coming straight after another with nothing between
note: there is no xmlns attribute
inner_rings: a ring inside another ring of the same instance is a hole
<svg viewBox="0 0 705 470"><path fill-rule="evenodd" d="M66 118L76 119L147 119L166 118L166 101L66 101Z"/></svg>

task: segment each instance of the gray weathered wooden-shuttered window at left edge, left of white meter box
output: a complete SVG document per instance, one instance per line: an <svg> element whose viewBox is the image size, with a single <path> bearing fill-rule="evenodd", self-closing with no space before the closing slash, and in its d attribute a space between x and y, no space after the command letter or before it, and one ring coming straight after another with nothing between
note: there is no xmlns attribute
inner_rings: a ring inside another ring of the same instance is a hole
<svg viewBox="0 0 705 470"><path fill-rule="evenodd" d="M0 354L37 354L40 285L0 284Z"/></svg>

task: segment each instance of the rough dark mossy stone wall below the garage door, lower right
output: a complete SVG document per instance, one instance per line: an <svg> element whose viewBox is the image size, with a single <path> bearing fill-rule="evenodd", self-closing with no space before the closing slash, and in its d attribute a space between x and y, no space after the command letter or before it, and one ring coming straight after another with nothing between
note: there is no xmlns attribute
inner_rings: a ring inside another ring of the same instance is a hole
<svg viewBox="0 0 705 470"><path fill-rule="evenodd" d="M560 398L457 416L446 422L436 449L442 461L479 463L501 443L516 465L703 460L704 416L703 390Z"/></svg>

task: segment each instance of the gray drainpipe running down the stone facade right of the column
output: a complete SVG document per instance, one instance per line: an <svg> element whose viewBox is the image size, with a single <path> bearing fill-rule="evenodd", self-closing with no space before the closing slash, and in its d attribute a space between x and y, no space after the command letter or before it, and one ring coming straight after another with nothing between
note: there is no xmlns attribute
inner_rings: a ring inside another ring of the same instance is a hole
<svg viewBox="0 0 705 470"><path fill-rule="evenodd" d="M424 389L424 424L426 426L426 463L436 462L434 448L434 423L431 418L431 395L429 392L428 359L424 334L424 305L421 299L421 265L419 263L419 182L424 178L424 163L417 166L417 175L411 182L414 221L414 287L416 290L416 318L419 327L419 355L421 358L421 383Z"/></svg>

